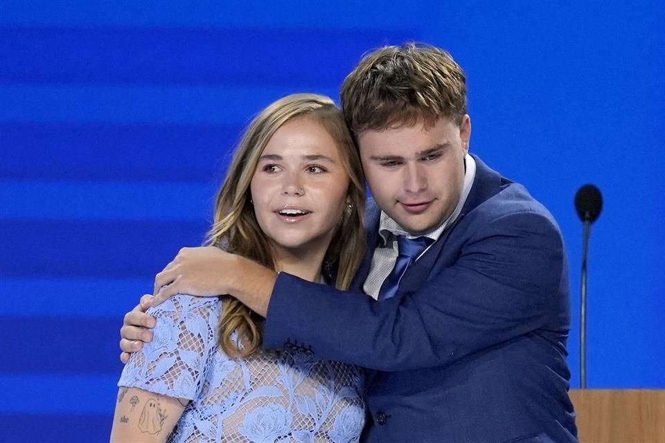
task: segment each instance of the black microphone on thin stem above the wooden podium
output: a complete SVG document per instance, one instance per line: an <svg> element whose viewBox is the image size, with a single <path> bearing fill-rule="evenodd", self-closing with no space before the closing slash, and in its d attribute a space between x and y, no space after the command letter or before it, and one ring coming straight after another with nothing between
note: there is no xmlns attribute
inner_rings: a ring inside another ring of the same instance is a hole
<svg viewBox="0 0 665 443"><path fill-rule="evenodd" d="M591 224L603 210L603 195L595 185L585 185L575 195L575 209L584 224L584 248L582 253L582 293L580 296L580 387L587 387L587 255Z"/></svg>

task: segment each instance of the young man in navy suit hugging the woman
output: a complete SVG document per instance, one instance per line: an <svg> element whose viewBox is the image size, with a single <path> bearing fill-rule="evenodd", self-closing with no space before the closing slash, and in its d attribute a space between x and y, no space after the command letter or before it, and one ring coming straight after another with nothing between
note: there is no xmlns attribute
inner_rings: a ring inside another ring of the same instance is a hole
<svg viewBox="0 0 665 443"><path fill-rule="evenodd" d="M576 442L560 230L522 186L468 154L460 66L432 46L382 48L348 75L342 106L375 203L357 290L185 248L145 305L229 293L266 317L264 347L375 370L366 442ZM150 338L141 325L151 321L137 307L123 350Z"/></svg>

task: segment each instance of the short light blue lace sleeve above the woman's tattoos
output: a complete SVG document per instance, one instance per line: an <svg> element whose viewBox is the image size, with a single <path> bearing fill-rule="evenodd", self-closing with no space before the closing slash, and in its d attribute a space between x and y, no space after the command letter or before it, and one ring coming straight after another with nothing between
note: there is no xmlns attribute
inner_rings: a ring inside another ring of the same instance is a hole
<svg viewBox="0 0 665 443"><path fill-rule="evenodd" d="M148 309L157 320L152 342L134 352L118 386L193 400L204 386L217 347L221 301L177 295Z"/></svg>

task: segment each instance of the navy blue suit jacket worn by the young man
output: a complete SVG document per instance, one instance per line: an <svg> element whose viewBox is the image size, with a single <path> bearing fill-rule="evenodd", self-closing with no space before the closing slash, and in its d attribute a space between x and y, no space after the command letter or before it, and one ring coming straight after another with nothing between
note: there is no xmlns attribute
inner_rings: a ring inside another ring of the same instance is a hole
<svg viewBox="0 0 665 443"><path fill-rule="evenodd" d="M265 347L311 347L370 368L366 442L576 442L560 230L517 183L475 157L461 215L377 302L278 275ZM380 210L368 212L369 251Z"/></svg>

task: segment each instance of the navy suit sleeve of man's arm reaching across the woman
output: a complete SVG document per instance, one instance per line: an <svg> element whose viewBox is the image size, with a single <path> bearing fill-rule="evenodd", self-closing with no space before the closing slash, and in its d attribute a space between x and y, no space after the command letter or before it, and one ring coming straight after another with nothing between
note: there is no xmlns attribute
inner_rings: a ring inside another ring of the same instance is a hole
<svg viewBox="0 0 665 443"><path fill-rule="evenodd" d="M452 266L402 298L376 302L281 273L264 346L292 343L323 359L397 371L452 363L544 326L562 296L556 225L520 212L477 231Z"/></svg>

